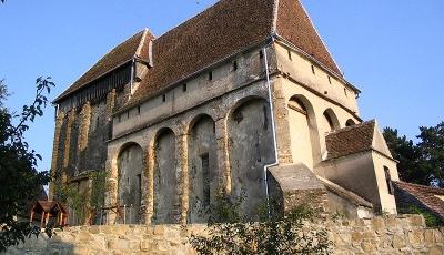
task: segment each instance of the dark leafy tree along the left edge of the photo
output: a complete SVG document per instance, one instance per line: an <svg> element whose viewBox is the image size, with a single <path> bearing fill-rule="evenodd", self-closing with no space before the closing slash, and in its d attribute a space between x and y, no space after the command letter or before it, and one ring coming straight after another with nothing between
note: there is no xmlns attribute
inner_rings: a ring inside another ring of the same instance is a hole
<svg viewBox="0 0 444 255"><path fill-rule="evenodd" d="M28 211L29 203L50 181L48 172L37 170L41 156L23 140L29 123L43 114L48 103L46 94L50 93L54 83L50 78L39 78L36 85L33 102L24 105L20 114L14 114L3 104L8 92L3 81L0 81L0 252L40 233L40 230L17 218Z"/></svg>

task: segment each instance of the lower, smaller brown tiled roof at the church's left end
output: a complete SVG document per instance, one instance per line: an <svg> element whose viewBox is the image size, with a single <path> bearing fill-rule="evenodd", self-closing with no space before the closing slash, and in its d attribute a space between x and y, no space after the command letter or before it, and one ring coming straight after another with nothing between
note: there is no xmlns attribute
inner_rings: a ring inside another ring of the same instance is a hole
<svg viewBox="0 0 444 255"><path fill-rule="evenodd" d="M147 60L149 58L148 44L153 38L154 37L148 31L148 29L144 29L120 43L118 47L104 54L94 65L92 65L91 69L81 75L79 80L60 94L54 100L54 103L60 102L72 92L87 86L92 81L103 76L115 68L128 63L134 57Z"/></svg>

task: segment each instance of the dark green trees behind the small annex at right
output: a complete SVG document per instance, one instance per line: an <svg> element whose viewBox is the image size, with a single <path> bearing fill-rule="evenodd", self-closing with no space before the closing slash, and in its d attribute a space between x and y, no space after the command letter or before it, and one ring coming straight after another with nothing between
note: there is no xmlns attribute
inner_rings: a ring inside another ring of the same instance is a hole
<svg viewBox="0 0 444 255"><path fill-rule="evenodd" d="M397 130L384 129L384 137L393 157L400 161L401 180L422 185L444 187L444 122L420 128L417 144L400 136Z"/></svg>

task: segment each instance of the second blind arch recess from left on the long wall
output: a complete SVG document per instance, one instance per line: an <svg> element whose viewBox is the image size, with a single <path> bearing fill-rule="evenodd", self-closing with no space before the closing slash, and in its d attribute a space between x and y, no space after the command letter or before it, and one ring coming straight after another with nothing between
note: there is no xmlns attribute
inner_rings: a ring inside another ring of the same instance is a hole
<svg viewBox="0 0 444 255"><path fill-rule="evenodd" d="M180 215L179 180L175 159L175 134L164 128L153 140L153 216L154 224L178 223Z"/></svg>

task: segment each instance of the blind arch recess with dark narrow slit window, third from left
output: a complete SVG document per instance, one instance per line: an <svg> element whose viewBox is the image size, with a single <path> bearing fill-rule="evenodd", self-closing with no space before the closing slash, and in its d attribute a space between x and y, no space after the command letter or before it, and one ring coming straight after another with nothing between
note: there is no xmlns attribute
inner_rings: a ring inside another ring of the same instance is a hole
<svg viewBox="0 0 444 255"><path fill-rule="evenodd" d="M218 190L218 144L215 122L199 114L189 126L189 223L204 223Z"/></svg>

